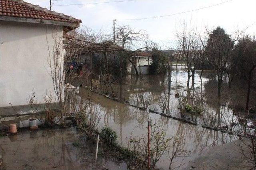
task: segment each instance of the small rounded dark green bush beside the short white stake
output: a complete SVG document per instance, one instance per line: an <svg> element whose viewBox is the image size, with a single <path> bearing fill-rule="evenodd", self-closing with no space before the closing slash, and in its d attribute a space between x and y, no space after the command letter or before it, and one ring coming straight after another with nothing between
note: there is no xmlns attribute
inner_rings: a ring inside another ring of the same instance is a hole
<svg viewBox="0 0 256 170"><path fill-rule="evenodd" d="M116 145L117 135L116 132L109 127L102 128L100 132L100 137L102 137L103 141L109 146Z"/></svg>

